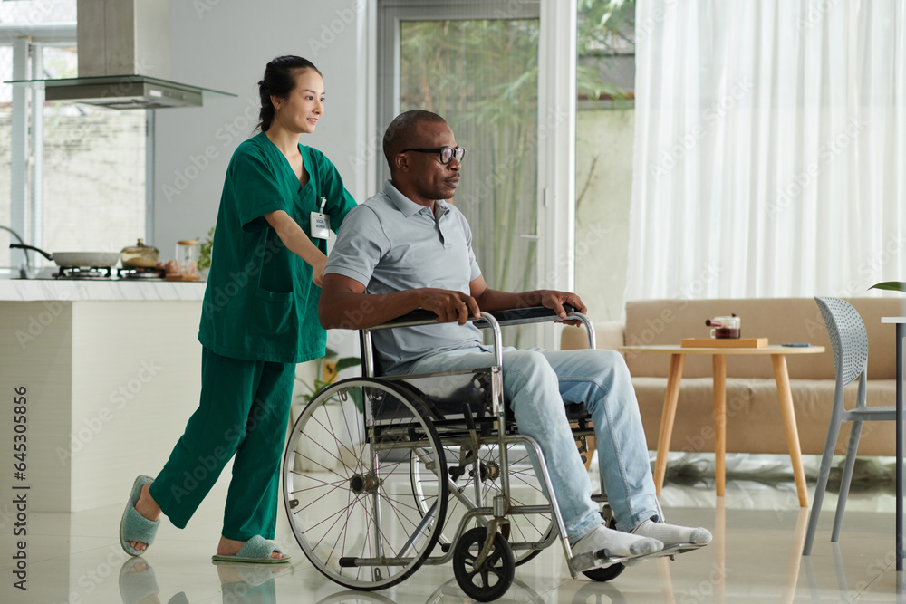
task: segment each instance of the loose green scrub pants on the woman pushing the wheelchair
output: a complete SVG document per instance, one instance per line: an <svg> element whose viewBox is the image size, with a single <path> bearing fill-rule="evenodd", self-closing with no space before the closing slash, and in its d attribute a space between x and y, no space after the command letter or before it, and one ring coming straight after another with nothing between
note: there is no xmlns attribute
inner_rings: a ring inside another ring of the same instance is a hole
<svg viewBox="0 0 906 604"><path fill-rule="evenodd" d="M186 527L236 455L222 534L274 539L294 377L295 363L232 359L202 348L198 410L150 486L171 523Z"/></svg>

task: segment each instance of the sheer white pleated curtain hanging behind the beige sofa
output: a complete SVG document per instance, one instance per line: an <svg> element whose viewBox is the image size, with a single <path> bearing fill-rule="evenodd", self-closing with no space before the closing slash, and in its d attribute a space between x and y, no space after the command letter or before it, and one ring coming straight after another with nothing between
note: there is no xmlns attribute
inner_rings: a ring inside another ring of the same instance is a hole
<svg viewBox="0 0 906 604"><path fill-rule="evenodd" d="M627 300L906 281L903 0L639 0Z"/></svg>

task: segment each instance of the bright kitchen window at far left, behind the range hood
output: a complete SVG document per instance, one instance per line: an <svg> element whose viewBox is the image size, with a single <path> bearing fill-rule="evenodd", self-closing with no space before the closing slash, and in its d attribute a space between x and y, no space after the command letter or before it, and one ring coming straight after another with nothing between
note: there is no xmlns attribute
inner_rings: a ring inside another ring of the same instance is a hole
<svg viewBox="0 0 906 604"><path fill-rule="evenodd" d="M75 5L0 5L0 81L75 77ZM134 244L146 231L147 120L143 110L48 103L39 86L0 83L0 225L51 252ZM0 266L17 273L24 256L10 240L0 230Z"/></svg>

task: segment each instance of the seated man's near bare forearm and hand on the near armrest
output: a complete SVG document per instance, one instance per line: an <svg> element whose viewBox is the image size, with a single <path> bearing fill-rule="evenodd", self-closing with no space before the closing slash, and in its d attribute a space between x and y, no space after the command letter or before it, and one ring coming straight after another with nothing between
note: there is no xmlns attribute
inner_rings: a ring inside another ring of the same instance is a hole
<svg viewBox="0 0 906 604"><path fill-rule="evenodd" d="M438 315L438 322L463 325L469 314L479 316L474 298L435 288L420 288L386 294L365 293L365 286L340 274L324 275L318 317L325 330L368 329L423 308Z"/></svg>

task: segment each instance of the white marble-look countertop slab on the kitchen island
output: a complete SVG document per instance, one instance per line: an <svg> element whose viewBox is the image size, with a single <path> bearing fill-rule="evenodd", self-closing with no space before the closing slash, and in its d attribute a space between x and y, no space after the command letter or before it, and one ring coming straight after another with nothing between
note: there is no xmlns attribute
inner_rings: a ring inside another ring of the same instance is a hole
<svg viewBox="0 0 906 604"><path fill-rule="evenodd" d="M120 301L197 302L205 297L207 282L163 280L61 280L61 279L4 279L0 280L0 301Z"/></svg>

